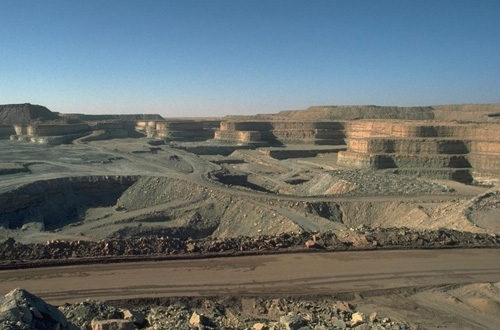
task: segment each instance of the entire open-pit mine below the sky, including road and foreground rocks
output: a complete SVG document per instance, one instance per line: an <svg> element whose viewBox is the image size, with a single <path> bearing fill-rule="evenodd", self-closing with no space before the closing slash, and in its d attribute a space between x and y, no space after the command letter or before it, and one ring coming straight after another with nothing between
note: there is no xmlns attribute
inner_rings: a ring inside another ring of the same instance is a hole
<svg viewBox="0 0 500 330"><path fill-rule="evenodd" d="M500 327L499 104L0 105L0 150L0 329Z"/></svg>

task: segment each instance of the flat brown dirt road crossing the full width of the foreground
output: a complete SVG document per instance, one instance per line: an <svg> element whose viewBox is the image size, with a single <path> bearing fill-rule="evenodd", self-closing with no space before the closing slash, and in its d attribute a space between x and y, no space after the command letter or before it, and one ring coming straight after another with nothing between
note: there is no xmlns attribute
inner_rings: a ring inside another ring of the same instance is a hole
<svg viewBox="0 0 500 330"><path fill-rule="evenodd" d="M494 249L264 255L0 271L0 294L22 287L53 304L86 298L334 294L499 282Z"/></svg>

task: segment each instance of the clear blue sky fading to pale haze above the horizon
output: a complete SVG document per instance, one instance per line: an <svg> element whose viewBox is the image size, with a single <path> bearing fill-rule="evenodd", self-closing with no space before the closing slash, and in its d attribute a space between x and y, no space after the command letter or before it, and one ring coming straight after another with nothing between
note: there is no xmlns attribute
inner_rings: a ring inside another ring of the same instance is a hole
<svg viewBox="0 0 500 330"><path fill-rule="evenodd" d="M500 103L498 0L0 0L0 104L221 116Z"/></svg>

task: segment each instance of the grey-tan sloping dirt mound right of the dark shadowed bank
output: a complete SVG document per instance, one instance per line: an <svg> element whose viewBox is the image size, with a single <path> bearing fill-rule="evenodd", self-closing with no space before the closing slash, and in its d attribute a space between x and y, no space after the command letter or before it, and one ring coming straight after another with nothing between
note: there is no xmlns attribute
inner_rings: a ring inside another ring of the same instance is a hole
<svg viewBox="0 0 500 330"><path fill-rule="evenodd" d="M258 201L165 177L139 179L117 206L143 214L114 234L119 236L160 231L176 237L236 237L300 231L289 218ZM134 226L139 223L140 227Z"/></svg>

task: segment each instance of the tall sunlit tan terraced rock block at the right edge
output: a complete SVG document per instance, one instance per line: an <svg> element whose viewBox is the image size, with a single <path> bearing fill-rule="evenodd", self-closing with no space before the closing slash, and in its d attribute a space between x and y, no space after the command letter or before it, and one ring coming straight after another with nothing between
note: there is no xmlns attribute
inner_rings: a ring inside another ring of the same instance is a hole
<svg viewBox="0 0 500 330"><path fill-rule="evenodd" d="M470 183L500 175L500 124L353 121L337 164Z"/></svg>

